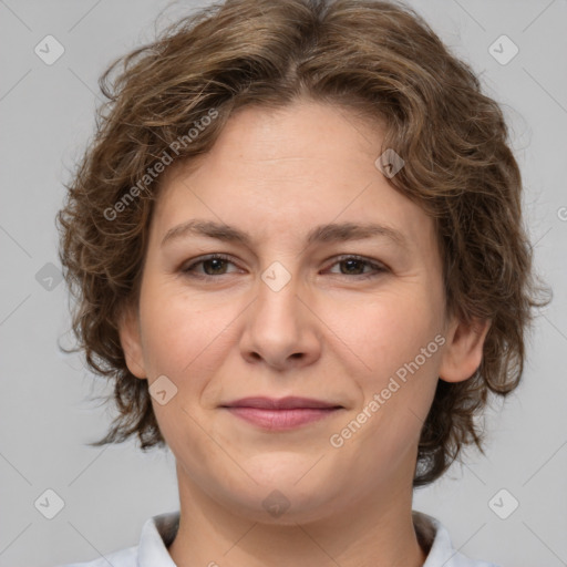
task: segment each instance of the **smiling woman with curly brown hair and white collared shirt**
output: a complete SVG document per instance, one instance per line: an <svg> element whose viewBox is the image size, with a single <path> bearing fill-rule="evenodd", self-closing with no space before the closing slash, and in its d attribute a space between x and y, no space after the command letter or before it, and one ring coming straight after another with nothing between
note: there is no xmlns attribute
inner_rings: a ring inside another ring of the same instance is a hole
<svg viewBox="0 0 567 567"><path fill-rule="evenodd" d="M492 565L412 488L482 446L543 305L497 104L386 2L229 0L122 62L60 255L95 445L167 445L181 511L81 565Z"/></svg>

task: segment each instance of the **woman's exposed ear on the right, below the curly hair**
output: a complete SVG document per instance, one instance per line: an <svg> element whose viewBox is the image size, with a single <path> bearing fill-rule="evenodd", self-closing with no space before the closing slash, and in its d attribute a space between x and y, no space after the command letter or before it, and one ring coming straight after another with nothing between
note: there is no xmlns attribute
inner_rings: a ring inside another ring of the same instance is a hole
<svg viewBox="0 0 567 567"><path fill-rule="evenodd" d="M439 370L441 380L463 382L476 372L491 323L489 319L473 319L471 323L453 319Z"/></svg>

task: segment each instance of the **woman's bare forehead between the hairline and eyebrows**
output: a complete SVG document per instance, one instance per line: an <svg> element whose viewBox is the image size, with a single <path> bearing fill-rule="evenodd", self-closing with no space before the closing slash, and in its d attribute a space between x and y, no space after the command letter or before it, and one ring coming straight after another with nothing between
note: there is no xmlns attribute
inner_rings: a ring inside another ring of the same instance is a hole
<svg viewBox="0 0 567 567"><path fill-rule="evenodd" d="M155 237L199 218L238 226L262 241L308 239L315 226L337 220L380 224L420 243L432 221L375 167L381 144L378 124L343 107L241 109L207 154L166 172Z"/></svg>

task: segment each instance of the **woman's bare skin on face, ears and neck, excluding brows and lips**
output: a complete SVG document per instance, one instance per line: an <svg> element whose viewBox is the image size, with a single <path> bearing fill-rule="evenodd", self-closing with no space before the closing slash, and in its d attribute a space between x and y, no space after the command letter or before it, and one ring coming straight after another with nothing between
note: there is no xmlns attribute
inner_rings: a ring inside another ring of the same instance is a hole
<svg viewBox="0 0 567 567"><path fill-rule="evenodd" d="M425 560L411 516L420 431L439 378L466 380L481 363L488 323L445 316L433 221L374 166L381 141L379 127L342 107L250 106L190 169L165 173L140 303L120 332L136 377L151 385L166 375L177 388L164 405L152 402L176 457L181 524L169 554L179 567ZM186 236L161 246L195 218L235 226L251 243ZM315 226L343 221L394 227L406 247L385 237L307 245ZM183 271L213 252L230 261ZM337 260L352 254L384 271ZM291 276L279 291L261 279L275 261ZM436 336L443 347L333 447L330 436ZM219 408L250 395L342 409L274 432ZM275 489L289 503L279 516L262 505Z"/></svg>

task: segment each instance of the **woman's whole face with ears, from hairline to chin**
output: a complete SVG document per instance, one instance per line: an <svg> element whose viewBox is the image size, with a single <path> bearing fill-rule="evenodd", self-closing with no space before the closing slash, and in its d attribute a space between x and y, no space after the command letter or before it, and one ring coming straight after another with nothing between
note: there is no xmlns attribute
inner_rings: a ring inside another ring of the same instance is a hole
<svg viewBox="0 0 567 567"><path fill-rule="evenodd" d="M240 110L166 172L121 340L185 489L262 520L279 499L284 523L411 491L437 379L468 378L482 340L445 317L433 221L380 148L302 101Z"/></svg>

